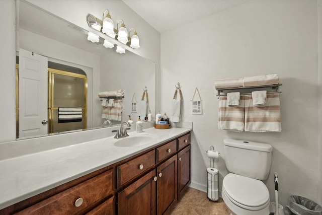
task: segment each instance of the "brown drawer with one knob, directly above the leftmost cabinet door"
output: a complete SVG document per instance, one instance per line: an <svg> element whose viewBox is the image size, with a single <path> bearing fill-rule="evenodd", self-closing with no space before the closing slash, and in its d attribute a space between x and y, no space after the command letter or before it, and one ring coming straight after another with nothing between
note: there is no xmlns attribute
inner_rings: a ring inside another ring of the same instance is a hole
<svg viewBox="0 0 322 215"><path fill-rule="evenodd" d="M135 178L155 164L155 151L152 150L117 167L117 187Z"/></svg>

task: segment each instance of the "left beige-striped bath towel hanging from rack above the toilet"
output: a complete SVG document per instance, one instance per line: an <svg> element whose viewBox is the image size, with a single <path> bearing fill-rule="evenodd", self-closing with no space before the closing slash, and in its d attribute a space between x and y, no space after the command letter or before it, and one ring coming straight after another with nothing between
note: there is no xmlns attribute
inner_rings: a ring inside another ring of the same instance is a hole
<svg viewBox="0 0 322 215"><path fill-rule="evenodd" d="M237 107L228 107L227 96L220 96L218 128L241 132L244 130L244 95Z"/></svg>

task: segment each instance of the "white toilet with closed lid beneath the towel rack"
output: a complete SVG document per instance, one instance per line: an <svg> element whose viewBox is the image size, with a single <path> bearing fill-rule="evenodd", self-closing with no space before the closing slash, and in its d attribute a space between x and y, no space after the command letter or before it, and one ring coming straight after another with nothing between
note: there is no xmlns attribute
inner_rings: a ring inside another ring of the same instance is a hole
<svg viewBox="0 0 322 215"><path fill-rule="evenodd" d="M268 177L272 146L260 142L224 139L224 156L230 172L222 182L222 198L231 214L268 215L270 194L261 180Z"/></svg>

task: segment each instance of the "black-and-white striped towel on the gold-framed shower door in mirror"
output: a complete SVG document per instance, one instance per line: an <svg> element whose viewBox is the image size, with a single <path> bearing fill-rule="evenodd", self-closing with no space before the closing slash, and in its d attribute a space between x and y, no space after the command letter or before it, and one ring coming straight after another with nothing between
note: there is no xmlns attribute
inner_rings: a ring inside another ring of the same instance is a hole
<svg viewBox="0 0 322 215"><path fill-rule="evenodd" d="M58 123L81 122L83 118L82 107L58 108Z"/></svg>

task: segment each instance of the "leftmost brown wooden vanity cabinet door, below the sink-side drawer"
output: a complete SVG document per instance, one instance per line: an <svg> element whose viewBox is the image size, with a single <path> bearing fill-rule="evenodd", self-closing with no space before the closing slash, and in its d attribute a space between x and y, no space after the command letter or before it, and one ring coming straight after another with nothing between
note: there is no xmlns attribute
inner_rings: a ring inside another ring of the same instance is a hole
<svg viewBox="0 0 322 215"><path fill-rule="evenodd" d="M155 214L155 170L118 193L118 214Z"/></svg>

